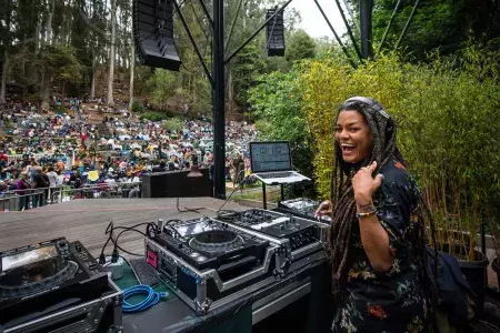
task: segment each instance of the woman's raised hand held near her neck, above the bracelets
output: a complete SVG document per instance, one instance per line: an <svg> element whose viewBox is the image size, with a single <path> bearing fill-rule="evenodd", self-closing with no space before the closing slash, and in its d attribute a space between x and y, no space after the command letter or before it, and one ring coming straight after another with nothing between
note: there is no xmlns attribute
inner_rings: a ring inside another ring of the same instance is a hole
<svg viewBox="0 0 500 333"><path fill-rule="evenodd" d="M377 169L377 162L373 161L368 167L361 168L352 178L352 188L354 190L354 200L358 205L371 204L373 193L380 188L383 175L377 174L372 178L371 174Z"/></svg>

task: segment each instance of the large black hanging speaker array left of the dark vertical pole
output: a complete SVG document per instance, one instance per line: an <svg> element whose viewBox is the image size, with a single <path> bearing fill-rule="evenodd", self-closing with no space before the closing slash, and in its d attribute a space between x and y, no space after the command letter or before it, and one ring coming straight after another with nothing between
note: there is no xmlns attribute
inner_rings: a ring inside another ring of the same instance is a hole
<svg viewBox="0 0 500 333"><path fill-rule="evenodd" d="M133 38L139 61L151 68L179 71L173 43L174 0L133 0Z"/></svg>

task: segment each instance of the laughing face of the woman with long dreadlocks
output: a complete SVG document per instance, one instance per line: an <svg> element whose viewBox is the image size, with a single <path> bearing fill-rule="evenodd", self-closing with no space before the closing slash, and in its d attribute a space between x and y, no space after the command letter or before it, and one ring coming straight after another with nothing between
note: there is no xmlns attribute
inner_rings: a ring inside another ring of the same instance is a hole
<svg viewBox="0 0 500 333"><path fill-rule="evenodd" d="M336 141L342 159L348 163L364 160L371 150L371 130L364 118L356 110L343 110L336 124Z"/></svg>

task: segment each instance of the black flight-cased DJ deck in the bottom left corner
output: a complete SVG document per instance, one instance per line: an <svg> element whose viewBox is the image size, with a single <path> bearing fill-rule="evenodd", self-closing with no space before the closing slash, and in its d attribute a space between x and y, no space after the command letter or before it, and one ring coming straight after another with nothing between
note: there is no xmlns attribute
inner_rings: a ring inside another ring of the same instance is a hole
<svg viewBox="0 0 500 333"><path fill-rule="evenodd" d="M0 325L6 333L121 326L121 293L80 242L60 238L1 252L0 259Z"/></svg>

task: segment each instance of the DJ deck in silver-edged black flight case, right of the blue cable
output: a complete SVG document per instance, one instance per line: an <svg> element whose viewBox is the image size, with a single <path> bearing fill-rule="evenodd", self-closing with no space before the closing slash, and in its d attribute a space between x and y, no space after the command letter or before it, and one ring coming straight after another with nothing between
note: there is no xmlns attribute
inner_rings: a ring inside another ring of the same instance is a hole
<svg viewBox="0 0 500 333"><path fill-rule="evenodd" d="M200 315L286 275L281 240L209 218L161 229L146 238L147 261Z"/></svg>

